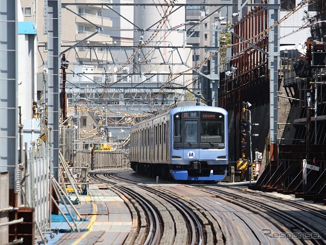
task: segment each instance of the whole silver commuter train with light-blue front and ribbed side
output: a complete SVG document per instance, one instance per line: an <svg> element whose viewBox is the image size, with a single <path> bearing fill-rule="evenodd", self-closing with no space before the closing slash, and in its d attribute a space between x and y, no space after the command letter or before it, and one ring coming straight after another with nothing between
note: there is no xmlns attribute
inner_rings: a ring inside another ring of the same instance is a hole
<svg viewBox="0 0 326 245"><path fill-rule="evenodd" d="M218 181L228 167L227 111L180 103L131 127L130 164L150 177Z"/></svg>

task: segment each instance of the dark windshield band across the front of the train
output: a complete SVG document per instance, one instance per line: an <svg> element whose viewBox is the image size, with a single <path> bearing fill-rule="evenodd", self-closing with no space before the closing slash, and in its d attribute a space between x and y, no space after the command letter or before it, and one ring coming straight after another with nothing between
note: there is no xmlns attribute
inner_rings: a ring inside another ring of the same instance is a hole
<svg viewBox="0 0 326 245"><path fill-rule="evenodd" d="M173 116L174 148L224 148L224 115L218 112L182 112Z"/></svg>

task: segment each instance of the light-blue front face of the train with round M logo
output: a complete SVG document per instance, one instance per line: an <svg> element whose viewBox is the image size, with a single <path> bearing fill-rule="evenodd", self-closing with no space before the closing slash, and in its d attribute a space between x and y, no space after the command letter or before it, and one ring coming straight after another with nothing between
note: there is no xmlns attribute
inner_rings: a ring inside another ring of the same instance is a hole
<svg viewBox="0 0 326 245"><path fill-rule="evenodd" d="M182 181L221 181L228 167L227 112L193 110L171 111L170 174Z"/></svg>

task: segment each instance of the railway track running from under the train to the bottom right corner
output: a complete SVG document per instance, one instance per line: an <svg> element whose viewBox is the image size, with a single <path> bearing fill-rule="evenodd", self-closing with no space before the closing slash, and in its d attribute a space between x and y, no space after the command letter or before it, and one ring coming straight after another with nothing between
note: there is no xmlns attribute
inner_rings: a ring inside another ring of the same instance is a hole
<svg viewBox="0 0 326 245"><path fill-rule="evenodd" d="M270 216L273 223L284 232L293 243L326 244L326 210L305 203L271 197L241 187L203 187L209 193L223 200L252 211ZM241 193L241 194L239 194ZM309 239L308 239L309 238Z"/></svg>

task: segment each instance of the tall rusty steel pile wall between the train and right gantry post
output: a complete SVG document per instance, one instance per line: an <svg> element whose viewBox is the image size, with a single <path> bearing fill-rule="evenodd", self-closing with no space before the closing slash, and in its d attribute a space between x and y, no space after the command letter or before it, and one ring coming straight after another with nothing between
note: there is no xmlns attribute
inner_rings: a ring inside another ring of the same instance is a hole
<svg viewBox="0 0 326 245"><path fill-rule="evenodd" d="M219 106L229 112L229 158L240 154L240 114L242 102L250 102L252 120L258 123L252 150L264 151L269 130L268 11L257 7L233 25L232 57L229 67L236 67L231 77L220 81ZM248 44L251 43L252 45ZM263 115L263 116L262 116ZM250 149L246 149L249 155Z"/></svg>

